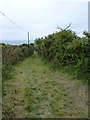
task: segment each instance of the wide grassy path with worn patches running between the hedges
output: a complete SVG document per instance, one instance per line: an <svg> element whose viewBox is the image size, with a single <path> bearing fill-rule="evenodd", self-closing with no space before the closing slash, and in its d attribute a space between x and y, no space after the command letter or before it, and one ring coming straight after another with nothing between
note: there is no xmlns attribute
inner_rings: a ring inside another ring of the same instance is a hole
<svg viewBox="0 0 90 120"><path fill-rule="evenodd" d="M16 65L13 78L3 84L4 118L88 117L87 86L51 70L37 55Z"/></svg>

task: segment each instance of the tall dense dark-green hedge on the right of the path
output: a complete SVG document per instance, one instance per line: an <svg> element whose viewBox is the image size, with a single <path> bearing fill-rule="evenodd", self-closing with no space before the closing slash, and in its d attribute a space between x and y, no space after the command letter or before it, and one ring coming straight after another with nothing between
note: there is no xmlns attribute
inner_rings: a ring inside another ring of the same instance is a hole
<svg viewBox="0 0 90 120"><path fill-rule="evenodd" d="M87 34L84 34L87 37ZM72 73L75 77L90 79L90 39L82 39L70 29L44 38L36 39L36 50L39 55L59 68Z"/></svg>

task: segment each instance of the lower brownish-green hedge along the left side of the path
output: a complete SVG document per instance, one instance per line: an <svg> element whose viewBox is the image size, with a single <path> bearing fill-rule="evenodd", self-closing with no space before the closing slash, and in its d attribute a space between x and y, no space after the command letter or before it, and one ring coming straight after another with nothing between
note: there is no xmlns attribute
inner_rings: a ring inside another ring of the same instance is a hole
<svg viewBox="0 0 90 120"><path fill-rule="evenodd" d="M34 53L32 45L11 46L4 45L2 47L2 78L3 80L11 77L12 66L26 57Z"/></svg>

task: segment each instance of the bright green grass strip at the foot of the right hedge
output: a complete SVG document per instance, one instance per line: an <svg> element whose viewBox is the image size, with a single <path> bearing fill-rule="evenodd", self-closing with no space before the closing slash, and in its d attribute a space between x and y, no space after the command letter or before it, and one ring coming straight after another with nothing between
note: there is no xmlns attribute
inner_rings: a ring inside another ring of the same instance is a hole
<svg viewBox="0 0 90 120"><path fill-rule="evenodd" d="M82 73L75 68L75 66L56 66L53 63L50 63L47 59L42 58L43 64L50 68L52 71L61 71L63 73L68 73L73 78L79 79L82 84L90 85L90 74Z"/></svg>

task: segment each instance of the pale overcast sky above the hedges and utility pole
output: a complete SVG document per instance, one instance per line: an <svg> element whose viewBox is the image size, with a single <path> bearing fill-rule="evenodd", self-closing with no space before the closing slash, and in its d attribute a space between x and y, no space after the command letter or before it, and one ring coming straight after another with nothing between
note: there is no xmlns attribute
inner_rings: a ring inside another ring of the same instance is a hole
<svg viewBox="0 0 90 120"><path fill-rule="evenodd" d="M78 35L88 28L88 0L0 0L0 11L25 30L18 29L0 14L3 42L22 43L27 40L27 31L33 42L57 31L57 26L65 28L69 23Z"/></svg>

